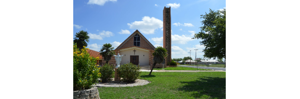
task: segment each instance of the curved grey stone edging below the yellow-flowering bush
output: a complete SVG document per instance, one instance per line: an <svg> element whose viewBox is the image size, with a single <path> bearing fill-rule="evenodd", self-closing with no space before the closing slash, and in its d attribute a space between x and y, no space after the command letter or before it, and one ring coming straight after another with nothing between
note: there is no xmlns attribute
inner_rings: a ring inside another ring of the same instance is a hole
<svg viewBox="0 0 300 99"><path fill-rule="evenodd" d="M76 90L73 91L73 98L85 98L85 99L100 99L99 97L99 91L96 86L93 86L90 89L84 89L84 90Z"/></svg>

